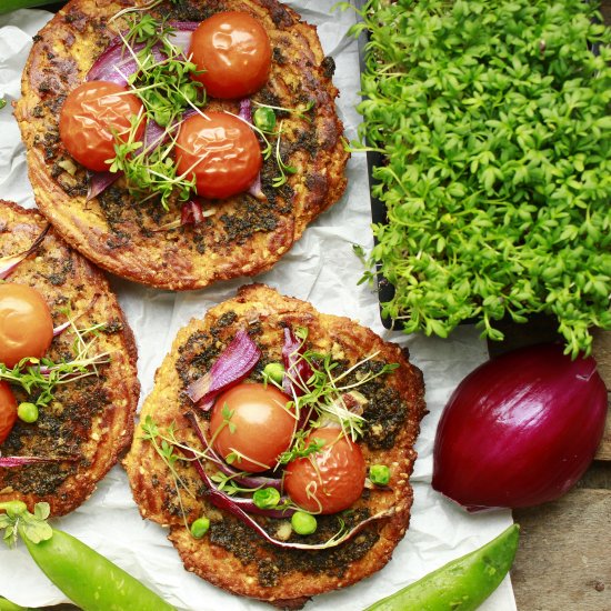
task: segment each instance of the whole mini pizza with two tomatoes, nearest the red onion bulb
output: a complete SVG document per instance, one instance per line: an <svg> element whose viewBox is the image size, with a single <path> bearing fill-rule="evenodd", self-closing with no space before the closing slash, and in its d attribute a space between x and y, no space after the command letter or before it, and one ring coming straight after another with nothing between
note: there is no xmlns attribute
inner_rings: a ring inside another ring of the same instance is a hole
<svg viewBox="0 0 611 611"><path fill-rule="evenodd" d="M301 608L409 524L422 374L399 345L262 284L179 331L124 464L184 567Z"/></svg>

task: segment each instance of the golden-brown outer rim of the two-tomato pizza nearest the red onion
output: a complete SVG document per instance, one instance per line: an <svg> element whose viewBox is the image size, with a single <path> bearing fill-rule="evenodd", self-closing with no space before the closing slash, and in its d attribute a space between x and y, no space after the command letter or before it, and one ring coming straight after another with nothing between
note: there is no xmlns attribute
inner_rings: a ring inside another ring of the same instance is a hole
<svg viewBox="0 0 611 611"><path fill-rule="evenodd" d="M291 570L280 574L273 587L261 585L257 579L257 570L251 564L244 565L221 545L208 541L196 541L182 524L182 520L176 513L168 512L168 499L159 493L163 485L168 485L163 468L150 453L146 443L140 440L138 432L134 437L132 449L124 461L134 499L144 518L170 527L169 539L177 547L184 567L232 593L258 598L283 608L299 608L312 595L350 585L380 570L390 560L392 551L403 538L409 525L413 499L408 481L415 460L413 443L419 432L420 420L425 411L422 374L407 361L400 347L384 342L372 331L360 327L354 321L320 314L303 301L282 297L273 289L261 284L251 284L240 289L236 299L211 309L207 314L207 322L191 321L189 325L179 331L172 351L157 372L156 387L144 402L142 418L151 414L161 424L168 425L173 420L178 422L179 429L182 428L184 421L181 420L180 409L161 408L162 404L168 405L173 402L176 405L177 403L174 393L180 381L176 363L180 348L193 333L198 334L210 330L213 321L222 320L222 317L227 317L230 312L236 312L242 322L257 320L263 327L266 321L272 319L274 323L281 319L290 324L307 324L312 342L317 347L322 342L330 349L341 348L344 353L351 355L357 353L361 358L363 354L380 350L380 358L383 361L401 364L399 373L393 372L388 385L401 394L409 407L409 413L391 448L371 450L363 447L368 462L392 464L393 469L392 492L387 495L378 494L374 500L370 499L365 504L372 513L388 509L390 505L395 507L395 512L391 518L380 520L380 523L372 528L372 530L379 529L375 543L364 555L349 562L341 575L332 574L332 571L327 574ZM323 341L324 338L327 340ZM150 485L150 478L154 478L158 482L154 490ZM164 481L166 483L163 483ZM192 514L193 519L202 512L202 507L204 505L200 502L187 501L186 504L187 511ZM212 512L218 513L213 509ZM256 542L251 544L257 545ZM257 553L266 554L267 551L259 549Z"/></svg>

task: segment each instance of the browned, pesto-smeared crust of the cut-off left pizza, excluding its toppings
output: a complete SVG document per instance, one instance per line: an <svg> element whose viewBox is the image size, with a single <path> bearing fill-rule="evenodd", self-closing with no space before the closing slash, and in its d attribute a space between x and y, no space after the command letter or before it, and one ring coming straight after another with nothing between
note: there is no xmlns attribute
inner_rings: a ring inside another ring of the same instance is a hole
<svg viewBox="0 0 611 611"><path fill-rule="evenodd" d="M33 210L0 200L0 257L26 251L48 227ZM32 424L17 421L0 444L3 457L66 458L59 462L0 468L0 501L21 500L32 511L48 502L52 515L79 507L131 443L140 395L133 334L103 273L74 252L51 229L40 246L7 278L29 284L44 298L54 327L70 309L79 329L106 323L94 353L110 352L98 375L57 387ZM59 362L71 352L76 334L67 329L53 339L46 357ZM13 387L19 401L28 395Z"/></svg>

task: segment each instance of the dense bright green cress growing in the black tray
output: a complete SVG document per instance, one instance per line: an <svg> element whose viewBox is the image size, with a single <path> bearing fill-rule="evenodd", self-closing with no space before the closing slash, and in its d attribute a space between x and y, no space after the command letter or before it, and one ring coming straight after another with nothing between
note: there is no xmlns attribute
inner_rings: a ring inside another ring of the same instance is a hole
<svg viewBox="0 0 611 611"><path fill-rule="evenodd" d="M383 314L447 337L558 319L565 351L611 328L611 31L582 0L368 0L364 122L388 224ZM348 3L342 3L347 8ZM595 46L595 52L592 47Z"/></svg>

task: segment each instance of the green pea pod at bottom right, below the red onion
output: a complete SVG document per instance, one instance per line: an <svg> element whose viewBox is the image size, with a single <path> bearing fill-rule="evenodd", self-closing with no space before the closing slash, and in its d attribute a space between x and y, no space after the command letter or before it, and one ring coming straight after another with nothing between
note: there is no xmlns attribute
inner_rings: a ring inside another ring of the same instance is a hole
<svg viewBox="0 0 611 611"><path fill-rule="evenodd" d="M482 548L452 560L365 611L472 611L513 564L520 527L512 524Z"/></svg>

